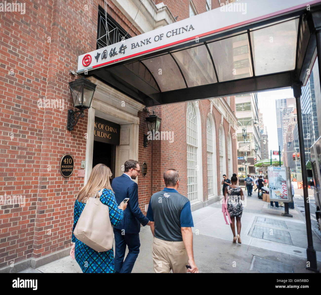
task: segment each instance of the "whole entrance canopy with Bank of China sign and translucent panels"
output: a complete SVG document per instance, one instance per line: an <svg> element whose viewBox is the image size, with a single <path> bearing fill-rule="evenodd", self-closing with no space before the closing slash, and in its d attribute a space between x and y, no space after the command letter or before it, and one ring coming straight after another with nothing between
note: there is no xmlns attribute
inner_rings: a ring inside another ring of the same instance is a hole
<svg viewBox="0 0 321 295"><path fill-rule="evenodd" d="M238 1L81 55L77 72L146 106L305 85L319 4Z"/></svg>

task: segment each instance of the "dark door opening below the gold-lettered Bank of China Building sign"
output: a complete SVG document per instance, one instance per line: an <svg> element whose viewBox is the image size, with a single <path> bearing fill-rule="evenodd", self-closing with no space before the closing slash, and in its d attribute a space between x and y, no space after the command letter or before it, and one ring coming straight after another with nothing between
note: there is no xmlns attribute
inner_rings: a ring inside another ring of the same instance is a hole
<svg viewBox="0 0 321 295"><path fill-rule="evenodd" d="M92 152L92 168L97 164L105 164L111 170L115 177L115 158L116 158L116 145L110 143L103 143L94 140L94 147Z"/></svg>

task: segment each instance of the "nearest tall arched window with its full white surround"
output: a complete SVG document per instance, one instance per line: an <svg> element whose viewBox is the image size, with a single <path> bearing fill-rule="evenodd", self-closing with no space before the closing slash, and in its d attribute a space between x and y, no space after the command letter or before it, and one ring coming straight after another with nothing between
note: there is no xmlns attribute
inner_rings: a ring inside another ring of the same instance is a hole
<svg viewBox="0 0 321 295"><path fill-rule="evenodd" d="M201 126L197 102L188 102L186 111L187 197L202 200Z"/></svg>

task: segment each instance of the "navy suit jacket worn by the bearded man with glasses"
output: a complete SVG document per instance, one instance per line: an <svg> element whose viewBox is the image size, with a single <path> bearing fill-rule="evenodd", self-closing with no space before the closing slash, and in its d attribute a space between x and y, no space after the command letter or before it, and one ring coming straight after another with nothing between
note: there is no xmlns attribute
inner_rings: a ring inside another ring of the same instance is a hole
<svg viewBox="0 0 321 295"><path fill-rule="evenodd" d="M127 208L124 211L124 218L115 229L125 230L125 234L136 234L140 232L140 224L145 226L148 219L144 216L138 206L138 185L126 175L113 179L111 187L115 193L119 205L125 198L129 198Z"/></svg>

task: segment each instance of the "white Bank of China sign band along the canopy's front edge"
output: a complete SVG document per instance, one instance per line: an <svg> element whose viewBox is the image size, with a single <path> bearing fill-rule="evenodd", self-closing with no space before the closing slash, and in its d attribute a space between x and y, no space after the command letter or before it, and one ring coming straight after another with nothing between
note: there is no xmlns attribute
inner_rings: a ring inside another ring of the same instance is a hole
<svg viewBox="0 0 321 295"><path fill-rule="evenodd" d="M169 24L144 34L122 40L78 56L77 73L114 64L123 60L195 41L222 31L269 19L285 12L302 9L319 1L307 0L247 0L226 4L219 8ZM243 4L243 5L242 5ZM246 8L246 10L245 10Z"/></svg>

